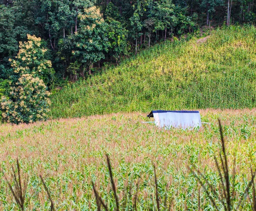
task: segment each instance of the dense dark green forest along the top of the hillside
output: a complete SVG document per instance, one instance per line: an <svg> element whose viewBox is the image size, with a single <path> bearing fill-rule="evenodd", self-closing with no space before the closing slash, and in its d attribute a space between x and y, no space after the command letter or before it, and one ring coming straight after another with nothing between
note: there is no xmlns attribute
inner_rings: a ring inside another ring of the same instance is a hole
<svg viewBox="0 0 256 211"><path fill-rule="evenodd" d="M255 14L255 0L0 0L1 84L27 34L48 49L50 86L201 26L254 23Z"/></svg>

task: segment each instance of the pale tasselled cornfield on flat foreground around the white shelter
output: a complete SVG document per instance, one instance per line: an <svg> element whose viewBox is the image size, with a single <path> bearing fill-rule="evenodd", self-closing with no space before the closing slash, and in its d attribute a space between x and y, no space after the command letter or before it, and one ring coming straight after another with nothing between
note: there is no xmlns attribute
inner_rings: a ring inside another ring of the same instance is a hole
<svg viewBox="0 0 256 211"><path fill-rule="evenodd" d="M256 110L200 110L200 130L160 130L142 124L145 113L116 113L35 124L0 125L0 167L8 179L19 158L28 175L27 210L49 210L50 202L40 182L46 181L57 210L96 210L91 180L113 210L114 196L106 165L108 153L122 210L134 210L138 179L138 210L154 210L153 163L156 165L160 208L213 210L212 203L188 167L204 172L218 192L219 176L213 155L220 150L217 118L223 124L230 168L236 158L235 201L238 203L256 168ZM131 187L131 188L130 188ZM126 192L130 190L130 194ZM200 197L198 191L201 191ZM248 198L247 198L248 199ZM251 210L248 200L239 210ZM220 202L216 203L221 208ZM0 210L17 210L3 174L0 174Z"/></svg>

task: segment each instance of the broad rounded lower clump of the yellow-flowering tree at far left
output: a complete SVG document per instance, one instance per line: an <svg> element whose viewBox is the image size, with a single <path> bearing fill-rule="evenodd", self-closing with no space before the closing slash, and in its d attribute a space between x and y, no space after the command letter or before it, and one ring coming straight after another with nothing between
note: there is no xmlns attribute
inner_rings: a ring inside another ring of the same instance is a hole
<svg viewBox="0 0 256 211"><path fill-rule="evenodd" d="M47 119L50 92L42 79L30 74L21 75L16 87L11 87L10 98L2 97L3 120L19 124Z"/></svg>

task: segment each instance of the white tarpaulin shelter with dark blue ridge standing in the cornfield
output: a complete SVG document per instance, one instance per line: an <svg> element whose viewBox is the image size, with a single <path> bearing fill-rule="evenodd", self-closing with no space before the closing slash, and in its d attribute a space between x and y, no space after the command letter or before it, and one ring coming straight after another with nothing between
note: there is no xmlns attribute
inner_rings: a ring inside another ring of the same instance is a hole
<svg viewBox="0 0 256 211"><path fill-rule="evenodd" d="M162 128L167 129L171 127L194 129L201 127L201 116L199 111L151 111L148 117L154 117L154 123Z"/></svg>

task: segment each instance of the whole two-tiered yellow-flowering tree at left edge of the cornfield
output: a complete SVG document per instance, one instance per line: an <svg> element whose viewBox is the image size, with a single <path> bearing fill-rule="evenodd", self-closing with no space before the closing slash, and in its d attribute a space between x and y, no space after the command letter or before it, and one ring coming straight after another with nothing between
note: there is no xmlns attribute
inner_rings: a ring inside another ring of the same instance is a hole
<svg viewBox="0 0 256 211"><path fill-rule="evenodd" d="M41 38L27 35L28 41L20 43L16 60L9 61L13 67L11 88L8 96L2 96L3 120L15 124L47 119L49 95L44 75L52 68L45 59L46 49L41 48Z"/></svg>

